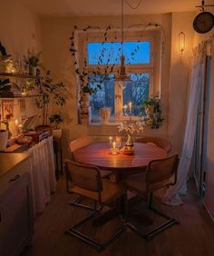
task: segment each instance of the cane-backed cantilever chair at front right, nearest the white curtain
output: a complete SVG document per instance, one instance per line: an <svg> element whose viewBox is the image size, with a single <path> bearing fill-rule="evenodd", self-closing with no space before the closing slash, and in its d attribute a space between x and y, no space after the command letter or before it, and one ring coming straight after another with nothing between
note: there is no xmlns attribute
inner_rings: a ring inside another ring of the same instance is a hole
<svg viewBox="0 0 214 256"><path fill-rule="evenodd" d="M160 233L160 231L164 231L173 224L178 223L175 219L159 212L151 205L153 192L176 183L178 163L179 158L177 153L164 159L153 160L149 163L147 172L132 175L123 181L129 191L149 201L149 209L152 212L155 212L161 217L167 219L166 222L161 223L159 226L153 228L147 233L142 233L139 228L134 226L131 222L127 224L131 227L131 230L136 231L148 240L150 240L154 235ZM172 182L171 178L173 175L174 181Z"/></svg>

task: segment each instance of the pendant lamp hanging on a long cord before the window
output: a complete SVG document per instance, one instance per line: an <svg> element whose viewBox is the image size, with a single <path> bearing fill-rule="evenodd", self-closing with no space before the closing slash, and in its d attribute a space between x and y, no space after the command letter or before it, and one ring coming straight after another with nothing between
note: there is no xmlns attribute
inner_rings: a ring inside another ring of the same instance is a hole
<svg viewBox="0 0 214 256"><path fill-rule="evenodd" d="M123 54L123 41L124 41L124 0L122 0L122 55L121 66L119 75L115 78L115 81L131 81L131 78L126 74L125 56Z"/></svg>

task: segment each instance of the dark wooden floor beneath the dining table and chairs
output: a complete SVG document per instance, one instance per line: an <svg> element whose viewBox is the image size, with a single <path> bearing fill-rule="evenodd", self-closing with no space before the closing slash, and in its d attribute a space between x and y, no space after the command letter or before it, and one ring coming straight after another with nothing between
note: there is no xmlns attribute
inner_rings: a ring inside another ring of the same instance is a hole
<svg viewBox="0 0 214 256"><path fill-rule="evenodd" d="M69 205L73 196L65 192L63 178L57 184L57 192L34 223L33 247L24 251L24 256L206 256L214 255L214 223L205 211L190 182L190 194L183 197L184 204L177 207L164 206L160 199L155 201L161 209L176 217L179 225L170 227L151 241L145 241L132 231L125 231L105 251L98 253L91 246L64 234L67 228L86 216L86 210ZM143 207L139 205L138 207ZM95 230L98 237L105 237L119 224L113 220Z"/></svg>

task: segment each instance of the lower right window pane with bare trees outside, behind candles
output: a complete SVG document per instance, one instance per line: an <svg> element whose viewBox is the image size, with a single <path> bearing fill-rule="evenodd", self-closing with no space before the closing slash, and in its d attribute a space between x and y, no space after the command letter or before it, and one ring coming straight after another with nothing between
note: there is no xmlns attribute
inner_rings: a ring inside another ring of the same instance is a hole
<svg viewBox="0 0 214 256"><path fill-rule="evenodd" d="M128 115L129 111L125 105L131 102L131 115L140 115L141 103L149 99L150 74L130 74L131 81L125 83L123 89L123 115Z"/></svg>

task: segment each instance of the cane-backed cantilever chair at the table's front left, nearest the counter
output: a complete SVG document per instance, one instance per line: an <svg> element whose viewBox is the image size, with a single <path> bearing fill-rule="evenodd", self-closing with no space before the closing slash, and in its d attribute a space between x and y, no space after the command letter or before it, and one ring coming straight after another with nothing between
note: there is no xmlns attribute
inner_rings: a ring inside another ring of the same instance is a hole
<svg viewBox="0 0 214 256"><path fill-rule="evenodd" d="M78 231L77 228L91 219L96 212L99 212L102 209L102 206L108 205L111 202L118 200L122 195L125 195L126 191L122 184L102 179L100 170L96 166L66 160L65 172L68 181L72 181L73 183L73 186L70 188L71 192L91 199L94 202L92 213L84 218L83 221L73 225L73 227L66 232L92 245L97 250L102 250L124 231L125 223L122 222L122 226L112 234L110 239L104 242L93 239L91 236ZM99 205L99 209L97 205Z"/></svg>

